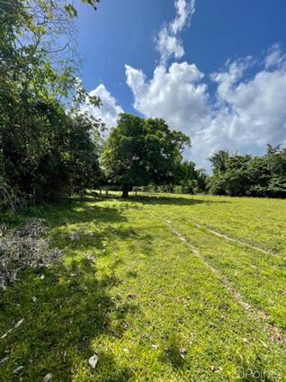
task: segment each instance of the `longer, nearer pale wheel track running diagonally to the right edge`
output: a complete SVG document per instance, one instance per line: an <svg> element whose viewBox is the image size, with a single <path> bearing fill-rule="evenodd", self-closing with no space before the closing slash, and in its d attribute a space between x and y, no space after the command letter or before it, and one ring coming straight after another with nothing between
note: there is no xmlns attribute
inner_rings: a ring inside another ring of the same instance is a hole
<svg viewBox="0 0 286 382"><path fill-rule="evenodd" d="M258 321L261 325L263 325L264 331L269 335L269 339L272 342L279 342L282 345L285 345L286 335L282 333L282 331L277 326L275 326L274 324L269 324L267 322L269 316L266 315L263 310L255 309L254 306L247 303L245 299L241 296L241 294L233 288L231 283L228 280L226 280L215 267L210 265L210 262L208 262L204 258L204 256L198 250L198 248L195 245L192 245L180 231L176 230L173 227L172 222L170 220L166 220L166 223L168 224L168 228L171 230L171 232L174 235L176 235L188 248L190 248L192 250L192 253L197 257L197 259L203 262L203 264L211 271L211 273L219 279L220 283L225 287L225 289L228 290L232 298L234 298L237 301L238 305L244 308L246 314L251 319Z"/></svg>

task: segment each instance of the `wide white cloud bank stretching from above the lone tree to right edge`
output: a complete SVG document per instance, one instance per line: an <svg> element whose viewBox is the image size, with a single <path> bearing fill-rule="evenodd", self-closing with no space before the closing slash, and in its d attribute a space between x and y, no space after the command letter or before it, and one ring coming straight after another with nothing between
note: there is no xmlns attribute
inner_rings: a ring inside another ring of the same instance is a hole
<svg viewBox="0 0 286 382"><path fill-rule="evenodd" d="M215 102L194 64L160 65L150 80L126 66L126 76L134 108L189 135L188 155L207 168L207 158L221 148L261 154L267 143L286 144L286 56L278 45L263 62L240 58L210 75L217 84Z"/></svg>

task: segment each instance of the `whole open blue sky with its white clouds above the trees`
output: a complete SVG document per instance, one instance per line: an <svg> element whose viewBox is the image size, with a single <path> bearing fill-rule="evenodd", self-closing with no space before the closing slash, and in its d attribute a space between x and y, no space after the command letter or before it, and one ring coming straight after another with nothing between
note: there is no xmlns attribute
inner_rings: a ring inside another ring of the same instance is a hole
<svg viewBox="0 0 286 382"><path fill-rule="evenodd" d="M110 127L120 111L165 118L191 136L185 155L204 166L219 148L260 154L268 142L286 143L284 0L76 8L82 80L103 99L102 111L89 110Z"/></svg>

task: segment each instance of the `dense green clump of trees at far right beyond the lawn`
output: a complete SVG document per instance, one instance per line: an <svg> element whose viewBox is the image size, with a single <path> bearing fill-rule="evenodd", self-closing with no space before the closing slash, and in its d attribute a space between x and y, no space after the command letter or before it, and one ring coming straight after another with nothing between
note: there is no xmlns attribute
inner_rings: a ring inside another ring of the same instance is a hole
<svg viewBox="0 0 286 382"><path fill-rule="evenodd" d="M210 158L213 175L208 190L216 195L286 198L286 149L267 145L262 156L230 155L221 150Z"/></svg>

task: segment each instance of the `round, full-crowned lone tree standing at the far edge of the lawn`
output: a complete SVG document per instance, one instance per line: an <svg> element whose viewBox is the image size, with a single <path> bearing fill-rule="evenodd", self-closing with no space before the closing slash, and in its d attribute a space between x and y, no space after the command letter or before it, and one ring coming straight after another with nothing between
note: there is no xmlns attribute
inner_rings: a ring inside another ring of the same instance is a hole
<svg viewBox="0 0 286 382"><path fill-rule="evenodd" d="M121 114L102 156L109 182L120 184L127 198L131 186L177 183L184 176L183 147L190 139L171 131L164 120Z"/></svg>

